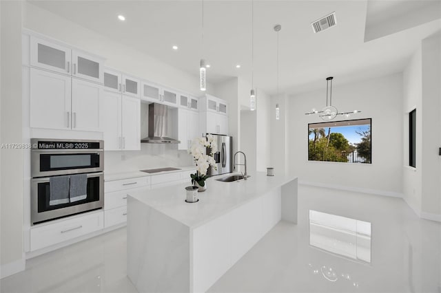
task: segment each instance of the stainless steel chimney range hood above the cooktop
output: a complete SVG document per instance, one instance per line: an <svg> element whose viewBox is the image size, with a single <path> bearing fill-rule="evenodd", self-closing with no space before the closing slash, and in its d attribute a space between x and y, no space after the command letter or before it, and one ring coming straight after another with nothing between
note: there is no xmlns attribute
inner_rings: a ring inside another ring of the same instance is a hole
<svg viewBox="0 0 441 293"><path fill-rule="evenodd" d="M150 144L178 144L179 140L170 138L172 125L169 120L169 109L166 105L153 102L149 105L148 137L141 142Z"/></svg>

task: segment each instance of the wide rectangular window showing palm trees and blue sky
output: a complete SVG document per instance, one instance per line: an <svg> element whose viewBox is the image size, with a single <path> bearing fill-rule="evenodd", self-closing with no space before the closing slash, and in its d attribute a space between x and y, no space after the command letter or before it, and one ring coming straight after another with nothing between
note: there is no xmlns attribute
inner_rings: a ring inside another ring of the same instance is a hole
<svg viewBox="0 0 441 293"><path fill-rule="evenodd" d="M371 119L308 124L308 160L372 163Z"/></svg>

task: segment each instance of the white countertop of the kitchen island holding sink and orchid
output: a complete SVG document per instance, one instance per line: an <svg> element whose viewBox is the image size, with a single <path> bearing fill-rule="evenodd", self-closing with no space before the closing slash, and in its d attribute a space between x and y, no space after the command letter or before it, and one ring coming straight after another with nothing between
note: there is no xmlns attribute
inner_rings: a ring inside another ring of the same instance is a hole
<svg viewBox="0 0 441 293"><path fill-rule="evenodd" d="M185 202L185 187L189 185L188 183L152 190L132 191L128 195L190 228L195 228L249 200L264 195L273 188L296 179L289 175L269 177L264 172L258 172L247 180L236 182L215 180L229 175L232 173L209 178L206 182L207 191L198 193L199 202L193 204Z"/></svg>

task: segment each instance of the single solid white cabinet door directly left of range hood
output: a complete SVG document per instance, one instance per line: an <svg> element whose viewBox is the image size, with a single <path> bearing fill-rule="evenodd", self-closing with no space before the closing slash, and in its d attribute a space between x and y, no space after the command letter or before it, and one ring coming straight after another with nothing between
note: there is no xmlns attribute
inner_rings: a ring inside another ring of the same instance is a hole
<svg viewBox="0 0 441 293"><path fill-rule="evenodd" d="M141 149L141 100L123 96L122 100L122 149Z"/></svg>

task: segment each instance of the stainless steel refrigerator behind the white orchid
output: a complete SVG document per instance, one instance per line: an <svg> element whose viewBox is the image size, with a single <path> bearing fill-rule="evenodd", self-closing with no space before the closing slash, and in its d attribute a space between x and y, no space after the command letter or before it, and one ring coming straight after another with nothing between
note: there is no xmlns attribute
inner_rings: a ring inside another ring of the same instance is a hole
<svg viewBox="0 0 441 293"><path fill-rule="evenodd" d="M208 175L220 175L232 173L233 171L233 138L227 135L213 134L218 144L218 151L214 153L217 170L213 167L209 169Z"/></svg>

